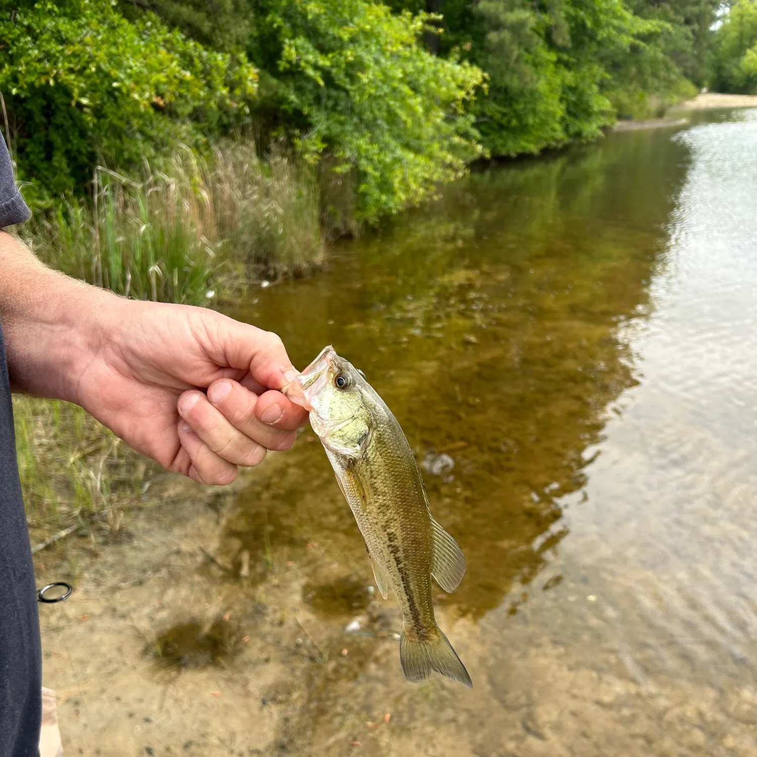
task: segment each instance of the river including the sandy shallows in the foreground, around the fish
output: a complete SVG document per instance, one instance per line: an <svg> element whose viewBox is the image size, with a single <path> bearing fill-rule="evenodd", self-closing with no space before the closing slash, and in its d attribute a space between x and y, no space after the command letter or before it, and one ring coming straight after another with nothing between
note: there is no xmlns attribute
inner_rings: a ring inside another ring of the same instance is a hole
<svg viewBox="0 0 757 757"><path fill-rule="evenodd" d="M403 680L308 428L46 558L67 754L757 755L755 292L741 110L477 170L229 308L394 411L466 554L435 604L474 688Z"/></svg>

